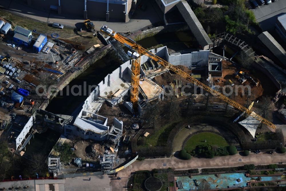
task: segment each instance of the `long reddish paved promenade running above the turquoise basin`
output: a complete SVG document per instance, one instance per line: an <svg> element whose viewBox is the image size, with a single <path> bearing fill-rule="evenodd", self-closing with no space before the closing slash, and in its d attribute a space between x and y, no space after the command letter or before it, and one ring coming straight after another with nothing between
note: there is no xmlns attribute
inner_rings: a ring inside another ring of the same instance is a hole
<svg viewBox="0 0 286 191"><path fill-rule="evenodd" d="M173 169L190 169L190 168L215 168L215 167L227 167L227 166L241 166L245 164L255 164L255 165L263 165L263 164L273 164L279 163L281 161L285 161L286 153L273 155L269 154L251 154L247 157L241 156L239 154L232 156L218 156L212 159L205 158L192 158L191 160L181 160L176 157L172 158L164 158L164 159L152 159L145 161L135 161L130 168L123 169L118 172L118 176L120 176L121 180L115 180L111 178L111 187L116 188L115 190L124 191L126 190L126 182L130 176L131 172L135 172L138 170L152 170L154 168L168 168L171 167ZM241 162L238 159L242 159ZM166 166L163 167L163 163L166 163ZM113 189L112 189L113 190Z"/></svg>

